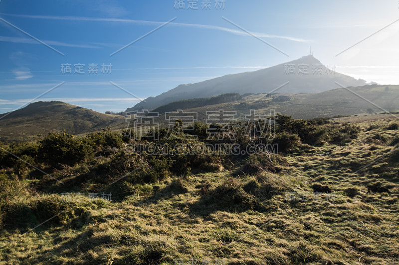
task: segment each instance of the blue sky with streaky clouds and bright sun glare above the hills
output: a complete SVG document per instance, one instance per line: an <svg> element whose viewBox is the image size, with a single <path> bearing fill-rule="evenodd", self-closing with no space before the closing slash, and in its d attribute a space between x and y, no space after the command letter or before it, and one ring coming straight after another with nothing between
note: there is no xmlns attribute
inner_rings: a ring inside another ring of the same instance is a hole
<svg viewBox="0 0 399 265"><path fill-rule="evenodd" d="M0 113L40 100L124 111L310 48L337 72L394 85L398 45L398 0L0 0Z"/></svg>

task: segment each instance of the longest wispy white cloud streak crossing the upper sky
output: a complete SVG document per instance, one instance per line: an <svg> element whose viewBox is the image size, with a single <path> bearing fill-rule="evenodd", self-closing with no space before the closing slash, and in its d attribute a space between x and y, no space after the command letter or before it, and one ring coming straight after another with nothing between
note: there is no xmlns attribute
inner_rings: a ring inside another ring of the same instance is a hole
<svg viewBox="0 0 399 265"><path fill-rule="evenodd" d="M2 15L10 15L16 17L23 18L34 18L34 19L52 19L52 20L70 20L70 21L100 21L100 22L121 22L121 23L134 23L141 25L162 25L165 22L159 21L149 21L149 20L135 20L135 19L123 19L123 18L100 18L100 17L84 17L84 16L47 16L47 15L22 15L22 14L4 14ZM172 22L168 24L169 26L179 26L179 27L195 27L200 29L212 29L219 30L224 32L229 32L235 35L240 36L248 36L247 33L242 32L241 30L231 29L226 27L214 26L214 25L204 25L204 24L190 24L190 23L178 23ZM262 32L251 32L253 35L256 35L260 38L278 38L278 39L286 39L295 42L310 42L310 40L295 38L291 36L281 36L281 35L273 35Z"/></svg>

